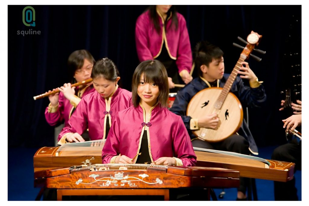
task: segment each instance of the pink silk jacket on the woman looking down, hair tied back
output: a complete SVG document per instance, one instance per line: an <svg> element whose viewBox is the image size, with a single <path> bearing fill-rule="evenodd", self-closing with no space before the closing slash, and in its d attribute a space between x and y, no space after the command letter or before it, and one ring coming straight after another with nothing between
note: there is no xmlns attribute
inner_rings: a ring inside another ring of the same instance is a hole
<svg viewBox="0 0 309 206"><path fill-rule="evenodd" d="M110 124L116 113L132 105L132 93L118 87L109 100L97 91L83 97L58 136L58 141L67 133L82 134L89 129L90 140L105 138L106 124ZM107 122L109 117L109 122Z"/></svg>

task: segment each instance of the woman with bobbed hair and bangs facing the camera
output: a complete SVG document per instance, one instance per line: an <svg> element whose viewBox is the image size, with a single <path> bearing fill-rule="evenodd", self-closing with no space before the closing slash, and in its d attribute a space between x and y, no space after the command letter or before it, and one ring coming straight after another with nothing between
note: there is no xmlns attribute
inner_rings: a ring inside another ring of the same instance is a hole
<svg viewBox="0 0 309 206"><path fill-rule="evenodd" d="M164 65L158 60L140 63L132 79L133 106L116 114L102 162L195 166L188 132L181 117L167 109L167 99Z"/></svg>

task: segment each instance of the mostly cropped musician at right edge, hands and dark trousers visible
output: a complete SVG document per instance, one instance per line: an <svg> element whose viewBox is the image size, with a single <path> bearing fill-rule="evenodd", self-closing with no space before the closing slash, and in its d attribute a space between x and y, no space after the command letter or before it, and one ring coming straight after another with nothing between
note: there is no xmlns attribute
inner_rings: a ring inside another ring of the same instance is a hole
<svg viewBox="0 0 309 206"><path fill-rule="evenodd" d="M292 115L285 120L283 128L286 131L294 131L294 129L302 124L302 102L297 100L298 104L292 103L292 108L295 110ZM283 106L284 100L281 101L281 106ZM283 110L283 107L279 109ZM288 143L278 146L274 149L271 159L284 161L284 162L294 162L296 170L302 169L302 141L298 138L292 138ZM298 200L297 189L295 187L295 177L288 182L277 182L274 181L274 195L275 200Z"/></svg>

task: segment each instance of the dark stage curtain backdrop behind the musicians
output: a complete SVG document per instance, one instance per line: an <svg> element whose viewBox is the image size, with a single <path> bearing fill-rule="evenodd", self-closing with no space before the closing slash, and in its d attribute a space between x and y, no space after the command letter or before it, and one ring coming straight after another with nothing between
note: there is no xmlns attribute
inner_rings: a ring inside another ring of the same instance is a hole
<svg viewBox="0 0 309 206"><path fill-rule="evenodd" d="M22 22L25 6L36 11L36 26ZM87 49L97 60L112 59L121 76L122 88L131 90L131 78L138 65L135 21L147 6L8 6L8 147L54 145L54 128L46 123L48 98L33 100L68 81L66 62L70 53ZM231 73L242 49L237 36L246 39L253 30L263 35L257 48L265 55L248 62L264 81L267 103L249 108L249 127L258 147L286 142L279 112L286 88L301 92L301 6L297 5L194 5L176 6L187 21L192 49L200 40L217 44L224 52L225 72ZM17 35L32 29L40 35ZM296 75L295 75L296 74ZM193 77L196 77L196 69ZM247 83L247 82L246 82ZM300 85L299 85L300 84ZM293 86L298 85L298 86ZM298 99L301 97L299 96ZM295 102L293 97L292 101Z"/></svg>

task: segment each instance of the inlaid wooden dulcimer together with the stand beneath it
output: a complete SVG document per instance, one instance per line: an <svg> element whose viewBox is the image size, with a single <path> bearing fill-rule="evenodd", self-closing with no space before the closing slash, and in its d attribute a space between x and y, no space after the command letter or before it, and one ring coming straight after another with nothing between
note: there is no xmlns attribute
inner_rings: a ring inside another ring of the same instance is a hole
<svg viewBox="0 0 309 206"><path fill-rule="evenodd" d="M161 195L170 200L180 194L210 200L208 188L239 187L239 171L195 166L83 165L40 170L34 177L34 187L56 188L57 200L63 195Z"/></svg>

